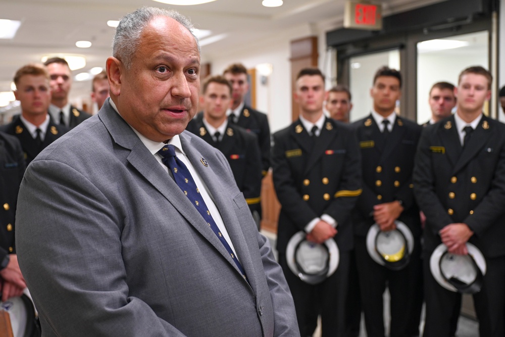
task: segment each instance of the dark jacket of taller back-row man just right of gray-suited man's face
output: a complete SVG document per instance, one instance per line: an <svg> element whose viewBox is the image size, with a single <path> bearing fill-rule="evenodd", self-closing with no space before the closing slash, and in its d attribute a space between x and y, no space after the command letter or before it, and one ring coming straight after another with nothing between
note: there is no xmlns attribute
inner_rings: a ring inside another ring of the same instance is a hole
<svg viewBox="0 0 505 337"><path fill-rule="evenodd" d="M267 115L244 105L236 125L258 136L262 173L266 175L270 168L270 126L268 125Z"/></svg>

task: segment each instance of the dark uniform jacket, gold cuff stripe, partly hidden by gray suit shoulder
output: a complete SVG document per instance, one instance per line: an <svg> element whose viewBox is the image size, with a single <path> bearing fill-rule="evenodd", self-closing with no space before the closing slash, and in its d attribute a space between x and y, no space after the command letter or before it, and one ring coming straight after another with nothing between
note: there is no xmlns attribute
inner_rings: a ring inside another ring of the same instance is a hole
<svg viewBox="0 0 505 337"><path fill-rule="evenodd" d="M257 136L245 129L228 123L223 139L216 143L203 122L203 112L193 118L187 130L207 141L221 151L233 172L238 189L243 193L245 201L252 211L261 216L261 157Z"/></svg>

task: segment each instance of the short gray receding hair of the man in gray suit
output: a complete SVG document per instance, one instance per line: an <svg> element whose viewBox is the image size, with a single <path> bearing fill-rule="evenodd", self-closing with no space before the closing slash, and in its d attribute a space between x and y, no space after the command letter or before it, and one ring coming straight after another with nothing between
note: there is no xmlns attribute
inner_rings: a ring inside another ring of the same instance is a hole
<svg viewBox="0 0 505 337"><path fill-rule="evenodd" d="M155 17L165 16L174 19L193 35L198 52L200 44L193 33L193 24L188 18L174 10L165 10L157 7L141 7L134 12L126 14L116 28L116 34L112 40L112 55L120 60L126 69L130 70L133 55L140 43L140 35L145 26Z"/></svg>

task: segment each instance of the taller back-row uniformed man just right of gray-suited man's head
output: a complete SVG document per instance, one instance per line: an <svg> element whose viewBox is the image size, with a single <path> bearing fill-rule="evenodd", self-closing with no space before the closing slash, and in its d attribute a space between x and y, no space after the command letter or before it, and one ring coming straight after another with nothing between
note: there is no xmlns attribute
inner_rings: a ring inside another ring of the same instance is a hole
<svg viewBox="0 0 505 337"><path fill-rule="evenodd" d="M223 76L232 86L230 123L237 124L258 136L261 151L262 173L265 176L270 168L270 126L267 115L245 105L244 98L249 91L247 69L240 63L231 64Z"/></svg>

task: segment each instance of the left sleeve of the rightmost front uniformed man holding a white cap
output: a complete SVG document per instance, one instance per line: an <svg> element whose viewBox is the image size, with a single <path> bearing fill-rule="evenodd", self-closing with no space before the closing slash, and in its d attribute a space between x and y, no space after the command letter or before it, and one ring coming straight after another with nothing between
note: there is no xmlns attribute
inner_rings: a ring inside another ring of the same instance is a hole
<svg viewBox="0 0 505 337"><path fill-rule="evenodd" d="M425 128L421 133L416 152L413 180L414 194L419 208L429 219L427 223L431 224L432 228L430 229L433 234L438 235L443 227L452 223L452 219L435 192L435 172L430 152L432 134L429 131L431 130L433 128Z"/></svg>

